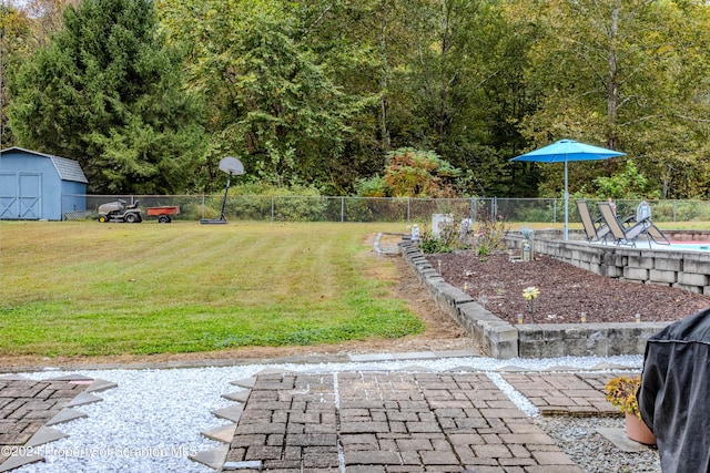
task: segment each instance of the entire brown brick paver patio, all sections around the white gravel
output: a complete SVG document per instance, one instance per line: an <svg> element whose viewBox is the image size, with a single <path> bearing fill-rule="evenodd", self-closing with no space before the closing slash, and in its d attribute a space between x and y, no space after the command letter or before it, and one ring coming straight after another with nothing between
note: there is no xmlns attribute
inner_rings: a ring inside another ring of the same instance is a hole
<svg viewBox="0 0 710 473"><path fill-rule="evenodd" d="M542 415L598 417L618 415L604 400L611 377L507 367L498 378L466 370L264 370L233 382L246 390L223 394L235 404L214 413L234 423L205 433L223 446L193 460L219 471L284 473L581 472L493 380L508 382ZM114 385L82 376L0 377L0 446L65 436L39 439L48 425L83 415L70 408L100 400L90 392ZM41 460L0 456L0 472Z"/></svg>

